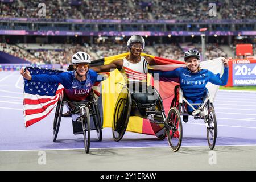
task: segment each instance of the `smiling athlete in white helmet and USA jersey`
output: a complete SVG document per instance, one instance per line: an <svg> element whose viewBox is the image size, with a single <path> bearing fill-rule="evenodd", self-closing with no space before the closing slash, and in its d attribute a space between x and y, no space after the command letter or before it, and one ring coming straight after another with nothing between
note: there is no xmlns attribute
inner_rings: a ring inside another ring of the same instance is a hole
<svg viewBox="0 0 256 182"><path fill-rule="evenodd" d="M75 70L59 73L58 75L30 75L30 72L24 68L20 69L20 74L26 80L49 82L62 84L65 96L70 101L84 101L90 95L90 90L94 82L101 81L101 76L92 69L89 69L91 63L90 55L85 52L77 52L72 56L72 65ZM70 68L70 67L69 67ZM73 109L72 104L68 104L68 109ZM63 114L64 117L71 116L71 111ZM76 121L74 119L74 121Z"/></svg>

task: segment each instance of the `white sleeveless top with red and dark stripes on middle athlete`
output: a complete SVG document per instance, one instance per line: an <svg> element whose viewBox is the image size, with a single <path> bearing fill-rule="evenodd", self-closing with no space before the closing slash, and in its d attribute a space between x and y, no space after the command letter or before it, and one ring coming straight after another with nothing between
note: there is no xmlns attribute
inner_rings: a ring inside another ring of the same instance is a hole
<svg viewBox="0 0 256 182"><path fill-rule="evenodd" d="M147 67L147 60L143 56L141 56L139 63L130 63L126 58L123 58L123 67L120 72L125 75L127 84L146 82L148 73Z"/></svg>

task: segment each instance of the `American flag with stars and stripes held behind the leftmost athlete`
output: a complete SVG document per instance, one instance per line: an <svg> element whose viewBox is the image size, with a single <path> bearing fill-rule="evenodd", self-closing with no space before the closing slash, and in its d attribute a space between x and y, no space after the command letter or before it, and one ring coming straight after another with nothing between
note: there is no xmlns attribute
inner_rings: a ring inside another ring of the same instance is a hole
<svg viewBox="0 0 256 182"><path fill-rule="evenodd" d="M27 67L30 75L48 74L56 75L63 71ZM63 85L46 82L35 82L24 80L23 82L23 105L25 126L28 127L41 119L47 117L56 106L61 94L63 94Z"/></svg>

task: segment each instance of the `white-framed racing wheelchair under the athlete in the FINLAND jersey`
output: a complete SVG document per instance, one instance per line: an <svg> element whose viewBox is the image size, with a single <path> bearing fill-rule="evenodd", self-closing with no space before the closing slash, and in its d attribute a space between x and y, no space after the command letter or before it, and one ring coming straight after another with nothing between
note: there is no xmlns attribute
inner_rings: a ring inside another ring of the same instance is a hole
<svg viewBox="0 0 256 182"><path fill-rule="evenodd" d="M214 111L213 100L210 97L208 90L205 90L203 95L203 103L190 104L184 97L182 89L179 85L174 88L174 98L171 102L171 108L176 107L179 110L179 115L183 117L184 122L188 122L187 107L193 109L192 115L195 119L203 119L206 129L207 129L207 140L210 150L213 150L217 138L217 120L216 114ZM195 106L198 106L198 109L195 109Z"/></svg>

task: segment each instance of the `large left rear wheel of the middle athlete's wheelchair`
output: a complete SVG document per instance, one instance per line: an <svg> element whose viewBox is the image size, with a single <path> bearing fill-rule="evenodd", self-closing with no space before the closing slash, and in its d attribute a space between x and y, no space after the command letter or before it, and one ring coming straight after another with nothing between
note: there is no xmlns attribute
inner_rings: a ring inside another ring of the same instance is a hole
<svg viewBox="0 0 256 182"><path fill-rule="evenodd" d="M113 115L112 134L116 142L121 140L123 135L125 135L131 112L130 101L131 95L129 89L125 86L119 93Z"/></svg>

